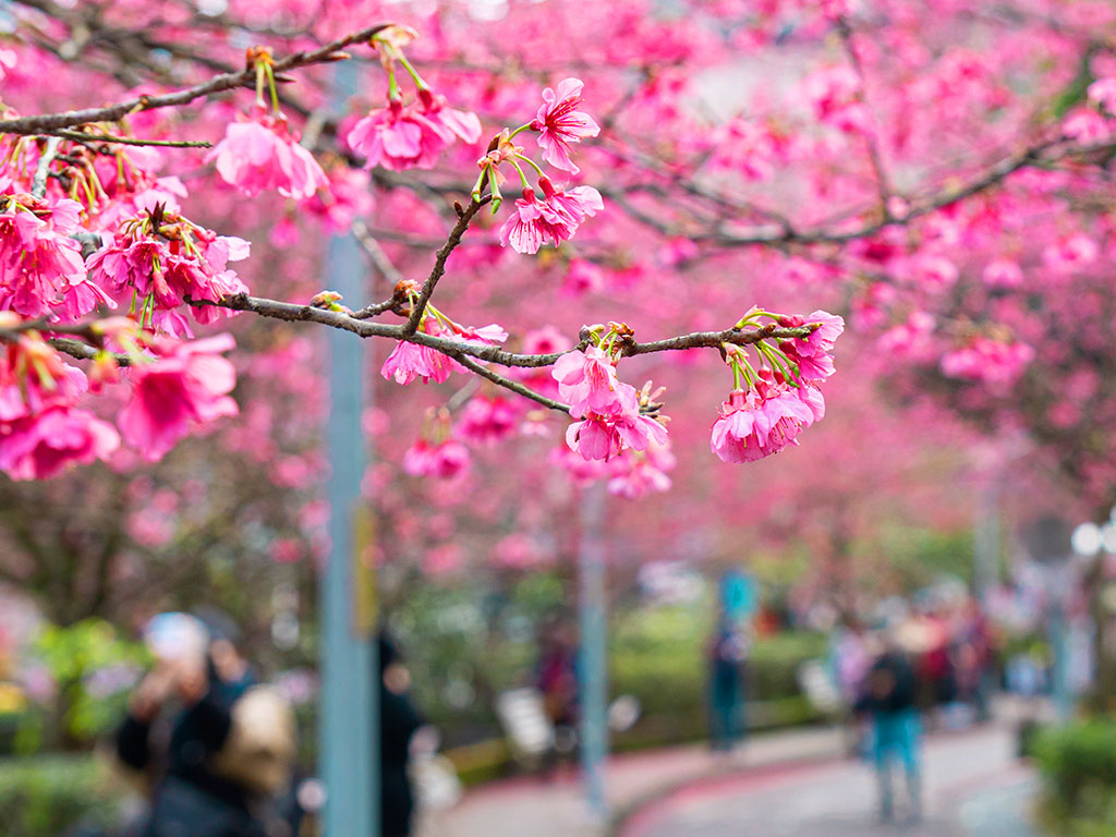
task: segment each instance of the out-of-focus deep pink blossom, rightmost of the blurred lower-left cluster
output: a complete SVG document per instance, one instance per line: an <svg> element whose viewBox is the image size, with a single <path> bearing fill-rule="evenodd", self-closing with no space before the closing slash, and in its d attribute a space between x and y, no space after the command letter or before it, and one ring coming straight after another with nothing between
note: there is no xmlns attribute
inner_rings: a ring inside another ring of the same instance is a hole
<svg viewBox="0 0 1116 837"><path fill-rule="evenodd" d="M129 368L132 400L119 414L125 441L155 462L203 425L238 413L229 393L237 384L232 364L218 353L233 348L229 335L193 343L163 340L156 358Z"/></svg>

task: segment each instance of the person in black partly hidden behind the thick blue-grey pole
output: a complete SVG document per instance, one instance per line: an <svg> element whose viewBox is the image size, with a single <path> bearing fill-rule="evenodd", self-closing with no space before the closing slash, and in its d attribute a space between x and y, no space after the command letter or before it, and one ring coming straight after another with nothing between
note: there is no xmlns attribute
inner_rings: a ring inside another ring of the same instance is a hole
<svg viewBox="0 0 1116 837"><path fill-rule="evenodd" d="M379 820L381 837L408 837L414 793L407 766L411 740L425 721L407 695L410 674L398 648L379 635Z"/></svg>

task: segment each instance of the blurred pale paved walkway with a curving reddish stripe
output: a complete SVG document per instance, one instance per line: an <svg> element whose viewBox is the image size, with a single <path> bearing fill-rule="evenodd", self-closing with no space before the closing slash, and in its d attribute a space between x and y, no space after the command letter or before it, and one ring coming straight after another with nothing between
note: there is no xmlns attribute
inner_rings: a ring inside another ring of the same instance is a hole
<svg viewBox="0 0 1116 837"><path fill-rule="evenodd" d="M757 737L732 759L698 745L614 757L607 795L614 812L634 811L620 837L1033 837L1026 825L1030 773L1013 752L1007 727L932 740L926 817L918 826L875 822L872 772L843 759L841 737L828 729ZM567 775L478 788L424 822L420 835L593 837L604 830Z"/></svg>

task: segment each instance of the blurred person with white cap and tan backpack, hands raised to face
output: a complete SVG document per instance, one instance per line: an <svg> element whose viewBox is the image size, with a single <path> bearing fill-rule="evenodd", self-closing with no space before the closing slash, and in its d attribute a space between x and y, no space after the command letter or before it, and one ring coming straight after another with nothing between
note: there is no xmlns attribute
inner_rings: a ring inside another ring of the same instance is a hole
<svg viewBox="0 0 1116 837"><path fill-rule="evenodd" d="M119 761L145 779L150 811L136 837L275 837L297 809L278 809L295 751L289 704L257 687L239 631L214 612L160 614L147 629L155 665L128 698ZM176 708L173 720L165 710Z"/></svg>

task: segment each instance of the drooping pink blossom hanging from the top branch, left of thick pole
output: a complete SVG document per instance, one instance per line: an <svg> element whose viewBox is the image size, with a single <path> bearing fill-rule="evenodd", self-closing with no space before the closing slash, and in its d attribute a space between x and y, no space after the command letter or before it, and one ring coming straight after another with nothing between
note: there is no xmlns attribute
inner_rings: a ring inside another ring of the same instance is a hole
<svg viewBox="0 0 1116 837"><path fill-rule="evenodd" d="M318 161L291 135L287 121L259 110L252 118L229 124L224 138L205 155L205 162L213 161L221 180L249 196L275 190L302 201L329 185Z"/></svg>

